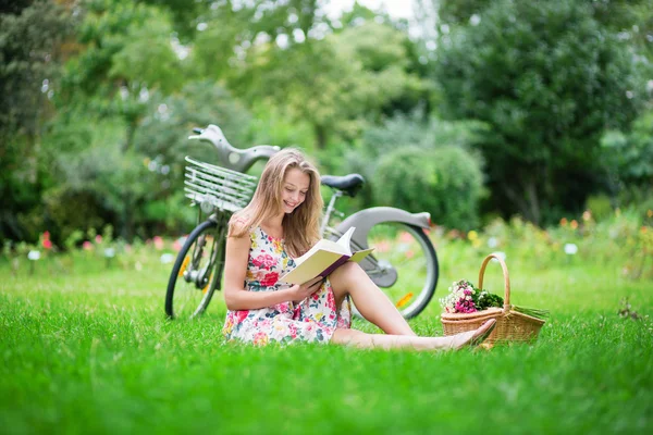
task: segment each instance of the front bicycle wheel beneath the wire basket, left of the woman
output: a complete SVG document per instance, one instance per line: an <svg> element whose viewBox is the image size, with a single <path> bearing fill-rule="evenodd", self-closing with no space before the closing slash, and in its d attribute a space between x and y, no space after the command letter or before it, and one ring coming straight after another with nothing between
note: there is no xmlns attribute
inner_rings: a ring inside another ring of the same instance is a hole
<svg viewBox="0 0 653 435"><path fill-rule="evenodd" d="M165 314L193 319L201 314L222 278L224 228L206 221L199 224L182 247L168 282Z"/></svg>

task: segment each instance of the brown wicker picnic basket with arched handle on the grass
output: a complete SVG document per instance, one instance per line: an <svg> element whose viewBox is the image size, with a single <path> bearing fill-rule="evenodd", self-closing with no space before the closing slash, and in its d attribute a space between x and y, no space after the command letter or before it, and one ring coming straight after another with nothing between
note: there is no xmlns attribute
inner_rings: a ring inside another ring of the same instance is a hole
<svg viewBox="0 0 653 435"><path fill-rule="evenodd" d="M469 314L442 313L441 319L444 327L444 335L455 335L472 331L481 326L483 322L490 319L496 319L496 327L484 341L485 344L491 346L497 341L530 341L537 339L544 321L513 310L513 306L510 306L510 279L508 276L508 268L503 259L496 253L491 253L483 260L481 271L479 272L479 288L483 288L485 266L492 259L496 259L503 269L505 287L503 309L490 308Z"/></svg>

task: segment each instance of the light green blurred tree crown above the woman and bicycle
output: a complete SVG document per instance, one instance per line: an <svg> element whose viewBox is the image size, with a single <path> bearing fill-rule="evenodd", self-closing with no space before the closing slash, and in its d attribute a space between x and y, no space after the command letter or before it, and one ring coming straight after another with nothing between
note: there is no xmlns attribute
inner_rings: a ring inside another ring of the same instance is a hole
<svg viewBox="0 0 653 435"><path fill-rule="evenodd" d="M235 86L252 101L273 101L308 123L322 150L332 136L357 136L401 99L419 100L424 86L407 71L405 39L389 25L369 22L289 47L261 44L241 63L245 80Z"/></svg>

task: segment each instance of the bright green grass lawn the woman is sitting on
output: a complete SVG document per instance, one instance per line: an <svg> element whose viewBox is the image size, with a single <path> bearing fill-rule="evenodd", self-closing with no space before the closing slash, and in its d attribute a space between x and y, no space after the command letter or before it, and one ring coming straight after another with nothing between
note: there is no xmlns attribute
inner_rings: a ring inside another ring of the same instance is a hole
<svg viewBox="0 0 653 435"><path fill-rule="evenodd" d="M477 281L480 254L439 254L436 298ZM152 258L40 261L34 276L0 263L2 433L653 431L653 325L617 315L623 297L653 314L653 284L618 261L535 268L508 252L513 301L552 311L539 340L418 353L225 344L221 295L199 321L164 319L170 265ZM498 265L484 287L503 293ZM411 325L441 334L439 313L434 300Z"/></svg>

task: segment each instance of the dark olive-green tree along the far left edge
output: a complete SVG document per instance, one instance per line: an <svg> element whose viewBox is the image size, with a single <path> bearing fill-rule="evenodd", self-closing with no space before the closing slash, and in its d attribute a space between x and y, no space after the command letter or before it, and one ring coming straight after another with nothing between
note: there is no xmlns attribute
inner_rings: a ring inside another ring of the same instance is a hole
<svg viewBox="0 0 653 435"><path fill-rule="evenodd" d="M14 1L0 9L0 241L28 238L24 219L39 202L40 123L61 66L70 11L50 1Z"/></svg>

